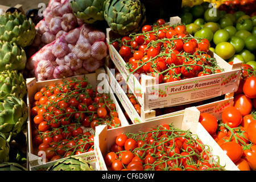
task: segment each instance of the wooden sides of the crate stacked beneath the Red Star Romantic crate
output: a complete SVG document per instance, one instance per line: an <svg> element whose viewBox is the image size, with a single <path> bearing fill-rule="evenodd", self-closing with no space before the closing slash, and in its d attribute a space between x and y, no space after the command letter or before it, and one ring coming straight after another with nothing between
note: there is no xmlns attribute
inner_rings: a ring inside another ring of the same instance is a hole
<svg viewBox="0 0 256 182"><path fill-rule="evenodd" d="M171 115L181 114L184 113L184 110L175 111L173 113L163 114L159 116L155 116L155 110L143 110L141 108L141 115L137 113L135 110L133 104L131 104L129 98L126 96L125 91L121 88L121 86L118 84L118 81L114 77L114 69L109 69L107 65L105 65L106 73L109 77L110 86L112 86L112 89L121 102L123 108L129 115L131 122L133 123L140 123L145 121L151 121L152 119L160 119L164 117L170 117ZM201 113L209 113L214 115L217 119L221 119L221 113L222 110L224 110L226 107L233 105L233 93L225 94L224 100L219 100L215 102L211 102L204 105L196 106L196 108Z"/></svg>

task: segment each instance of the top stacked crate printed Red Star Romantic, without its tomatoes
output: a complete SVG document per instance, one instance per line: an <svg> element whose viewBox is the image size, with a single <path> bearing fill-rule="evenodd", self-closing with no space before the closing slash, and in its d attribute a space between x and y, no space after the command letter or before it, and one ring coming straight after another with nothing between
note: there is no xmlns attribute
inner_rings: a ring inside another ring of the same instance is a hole
<svg viewBox="0 0 256 182"><path fill-rule="evenodd" d="M170 24L177 23L180 23L178 16L170 18ZM233 65L230 65L213 52L210 52L210 56L216 58L217 64L224 69L224 72L163 84L156 84L154 77L142 75L140 84L138 79L127 71L126 62L110 44L110 40L118 38L118 35L114 34L110 28L106 29L106 35L110 57L118 71L127 80L129 88L143 110L189 104L236 92L238 89L242 62L235 59Z"/></svg>

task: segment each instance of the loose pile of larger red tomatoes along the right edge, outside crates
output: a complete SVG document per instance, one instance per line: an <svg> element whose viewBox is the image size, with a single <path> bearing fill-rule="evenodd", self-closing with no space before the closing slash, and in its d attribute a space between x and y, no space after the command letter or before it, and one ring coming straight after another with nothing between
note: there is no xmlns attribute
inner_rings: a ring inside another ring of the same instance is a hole
<svg viewBox="0 0 256 182"><path fill-rule="evenodd" d="M201 116L202 125L241 171L256 170L256 77L242 64L242 77L233 106L222 111L221 121Z"/></svg>

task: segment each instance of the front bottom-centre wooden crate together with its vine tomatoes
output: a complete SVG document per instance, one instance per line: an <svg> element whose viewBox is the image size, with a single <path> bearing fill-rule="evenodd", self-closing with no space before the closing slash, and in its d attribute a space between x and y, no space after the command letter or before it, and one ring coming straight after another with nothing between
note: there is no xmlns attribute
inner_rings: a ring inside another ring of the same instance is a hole
<svg viewBox="0 0 256 182"><path fill-rule="evenodd" d="M96 127L97 170L238 170L199 122L200 111L107 130Z"/></svg>

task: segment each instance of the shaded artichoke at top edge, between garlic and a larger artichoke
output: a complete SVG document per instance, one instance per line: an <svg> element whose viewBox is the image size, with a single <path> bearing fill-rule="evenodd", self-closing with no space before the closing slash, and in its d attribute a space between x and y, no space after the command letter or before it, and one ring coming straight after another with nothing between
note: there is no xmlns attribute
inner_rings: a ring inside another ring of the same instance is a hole
<svg viewBox="0 0 256 182"><path fill-rule="evenodd" d="M104 20L106 0L73 0L70 2L73 14L85 23Z"/></svg>

